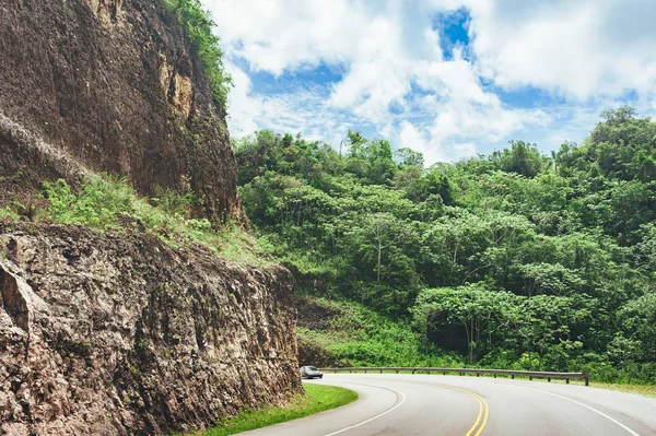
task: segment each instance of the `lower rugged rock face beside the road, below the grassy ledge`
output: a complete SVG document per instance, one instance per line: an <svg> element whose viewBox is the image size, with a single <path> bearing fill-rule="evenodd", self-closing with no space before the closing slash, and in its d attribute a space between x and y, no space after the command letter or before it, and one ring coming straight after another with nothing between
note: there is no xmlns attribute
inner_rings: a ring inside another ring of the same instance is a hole
<svg viewBox="0 0 656 436"><path fill-rule="evenodd" d="M0 223L0 434L204 427L301 390L290 273Z"/></svg>

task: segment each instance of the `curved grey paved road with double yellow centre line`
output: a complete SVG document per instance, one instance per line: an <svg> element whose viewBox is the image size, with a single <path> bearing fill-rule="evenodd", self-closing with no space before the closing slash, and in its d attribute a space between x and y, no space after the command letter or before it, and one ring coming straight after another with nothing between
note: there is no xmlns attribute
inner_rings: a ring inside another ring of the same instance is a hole
<svg viewBox="0 0 656 436"><path fill-rule="evenodd" d="M594 387L410 374L326 374L309 382L360 399L244 435L656 436L656 399Z"/></svg>

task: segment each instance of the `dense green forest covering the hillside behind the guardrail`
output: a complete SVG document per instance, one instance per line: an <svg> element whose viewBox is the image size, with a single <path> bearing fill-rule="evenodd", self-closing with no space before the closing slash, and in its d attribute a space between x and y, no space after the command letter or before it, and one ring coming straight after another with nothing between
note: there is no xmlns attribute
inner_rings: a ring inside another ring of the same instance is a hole
<svg viewBox="0 0 656 436"><path fill-rule="evenodd" d="M469 365L656 381L656 122L601 114L551 155L426 167L349 132L235 140L242 200L301 294L356 302Z"/></svg>

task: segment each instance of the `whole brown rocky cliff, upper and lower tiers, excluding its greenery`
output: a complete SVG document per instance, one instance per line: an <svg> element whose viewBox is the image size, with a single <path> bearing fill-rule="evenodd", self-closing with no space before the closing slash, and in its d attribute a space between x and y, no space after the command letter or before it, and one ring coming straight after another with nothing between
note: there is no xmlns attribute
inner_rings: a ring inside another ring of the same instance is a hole
<svg viewBox="0 0 656 436"><path fill-rule="evenodd" d="M0 207L98 172L246 221L225 114L161 0L0 1ZM202 428L302 390L289 271L122 219L0 219L0 434Z"/></svg>

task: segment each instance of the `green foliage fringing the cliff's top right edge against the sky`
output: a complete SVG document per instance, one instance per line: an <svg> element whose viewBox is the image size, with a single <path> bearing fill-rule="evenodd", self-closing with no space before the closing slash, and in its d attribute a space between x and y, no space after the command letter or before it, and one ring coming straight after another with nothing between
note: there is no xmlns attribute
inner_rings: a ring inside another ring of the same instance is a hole
<svg viewBox="0 0 656 436"><path fill-rule="evenodd" d="M214 102L225 111L232 80L223 69L223 51L219 46L219 37L212 33L215 24L210 13L202 9L199 0L165 0L165 4L168 13L185 30L210 80Z"/></svg>

